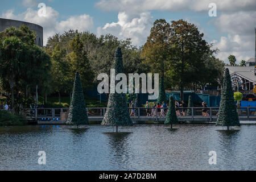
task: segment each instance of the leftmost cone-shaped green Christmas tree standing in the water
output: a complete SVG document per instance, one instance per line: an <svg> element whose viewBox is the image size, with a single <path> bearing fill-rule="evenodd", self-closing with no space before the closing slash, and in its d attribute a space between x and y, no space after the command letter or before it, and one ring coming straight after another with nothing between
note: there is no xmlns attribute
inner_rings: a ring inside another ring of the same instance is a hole
<svg viewBox="0 0 256 182"><path fill-rule="evenodd" d="M88 115L84 100L84 93L82 91L82 84L79 73L76 73L75 82L73 86L73 94L71 99L71 106L69 108L68 120L69 125L88 125Z"/></svg>

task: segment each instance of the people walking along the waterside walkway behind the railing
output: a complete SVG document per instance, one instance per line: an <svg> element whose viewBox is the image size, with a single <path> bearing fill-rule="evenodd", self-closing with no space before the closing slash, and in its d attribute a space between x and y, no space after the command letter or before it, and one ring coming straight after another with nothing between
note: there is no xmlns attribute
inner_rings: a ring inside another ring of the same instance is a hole
<svg viewBox="0 0 256 182"><path fill-rule="evenodd" d="M205 117L208 117L209 114L207 113L207 103L206 102L202 102L202 115ZM165 102L162 103L162 105L160 105L160 103L153 102L153 106L152 108L150 107L148 101L146 102L146 114L147 117L148 116L159 116L159 117L165 117L168 113L168 104L165 104ZM151 108L151 109L150 109ZM176 115L177 116L186 116L187 114L187 104L184 101L181 101L181 103L179 103L179 101L175 101L175 110L176 110ZM131 101L130 104L130 116L135 116L135 104L133 101Z"/></svg>

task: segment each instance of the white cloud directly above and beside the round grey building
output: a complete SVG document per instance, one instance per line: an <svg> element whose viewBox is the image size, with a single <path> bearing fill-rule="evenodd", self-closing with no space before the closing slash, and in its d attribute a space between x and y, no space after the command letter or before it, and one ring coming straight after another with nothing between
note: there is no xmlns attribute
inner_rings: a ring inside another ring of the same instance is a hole
<svg viewBox="0 0 256 182"><path fill-rule="evenodd" d="M93 19L91 16L86 14L71 16L67 20L59 22L59 13L49 6L46 6L45 17L38 16L38 10L31 8L28 8L24 13L18 15L14 14L14 10L7 10L5 13L2 13L1 17L39 24L44 28L44 45L46 45L49 36L55 33L63 33L69 29L88 31L90 28L93 28Z"/></svg>

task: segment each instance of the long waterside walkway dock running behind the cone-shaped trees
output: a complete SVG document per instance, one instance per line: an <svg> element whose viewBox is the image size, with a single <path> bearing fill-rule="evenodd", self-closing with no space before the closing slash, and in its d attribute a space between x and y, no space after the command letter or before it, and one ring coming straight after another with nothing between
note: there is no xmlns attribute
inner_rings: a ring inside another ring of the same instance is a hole
<svg viewBox="0 0 256 182"><path fill-rule="evenodd" d="M104 118L106 107L88 107L88 119L90 123L100 123ZM137 116L131 117L134 124L143 123L163 123L166 117L158 115L146 116L146 108L137 107ZM154 109L154 108L149 108ZM183 108L180 108L183 109ZM208 107L208 116L201 115L202 107L189 107L191 115L177 117L180 123L205 123L214 124L217 120L218 107ZM256 107L240 107L240 123L241 124L256 124ZM38 108L31 109L30 119L37 121L39 125L63 125L67 119L69 108ZM65 117L63 117L63 114Z"/></svg>

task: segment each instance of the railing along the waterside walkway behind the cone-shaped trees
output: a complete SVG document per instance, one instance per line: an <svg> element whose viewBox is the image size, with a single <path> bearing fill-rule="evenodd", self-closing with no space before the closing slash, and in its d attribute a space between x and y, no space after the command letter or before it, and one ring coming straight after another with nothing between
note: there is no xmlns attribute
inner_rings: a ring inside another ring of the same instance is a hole
<svg viewBox="0 0 256 182"><path fill-rule="evenodd" d="M132 109L129 109L129 113L132 113ZM203 109L207 110L207 114L203 115ZM210 121L213 121L213 118L217 118L219 107L179 107L176 109L176 114L178 118L209 118ZM61 119L61 114L66 114L69 111L69 108L37 108L37 109L26 109L29 111L29 116L36 121L38 119L47 118L47 119ZM89 118L103 118L106 113L106 107L88 107L88 117ZM168 110L166 109L164 113L162 113L161 108L145 108L145 107L135 107L133 108L134 114L131 114L132 118L144 119L147 118L155 118L158 121L159 118L164 118L167 115ZM187 114L187 111L190 110L191 114ZM243 118L255 118L256 119L256 107L237 107L238 113L240 117Z"/></svg>

